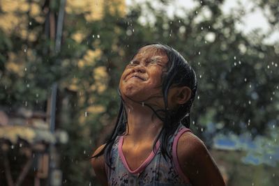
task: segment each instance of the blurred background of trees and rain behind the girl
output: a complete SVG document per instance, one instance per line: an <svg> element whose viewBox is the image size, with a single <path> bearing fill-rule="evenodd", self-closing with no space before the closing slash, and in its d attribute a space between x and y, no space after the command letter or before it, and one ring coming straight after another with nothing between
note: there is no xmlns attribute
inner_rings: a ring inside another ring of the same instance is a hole
<svg viewBox="0 0 279 186"><path fill-rule="evenodd" d="M162 42L193 66L190 129L227 185L279 184L276 0L0 0L0 185L98 185L137 49Z"/></svg>

